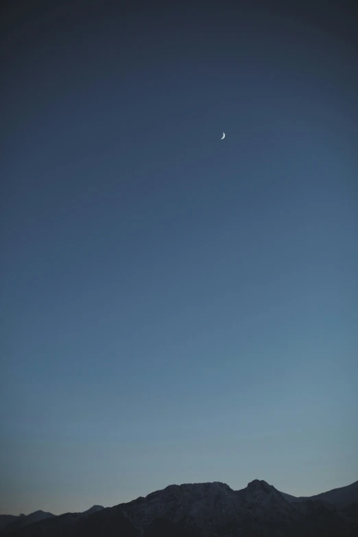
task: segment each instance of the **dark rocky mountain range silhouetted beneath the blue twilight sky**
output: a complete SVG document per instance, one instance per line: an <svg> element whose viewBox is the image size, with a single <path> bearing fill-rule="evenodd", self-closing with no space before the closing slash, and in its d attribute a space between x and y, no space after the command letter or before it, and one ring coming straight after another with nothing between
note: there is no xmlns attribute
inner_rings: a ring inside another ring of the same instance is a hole
<svg viewBox="0 0 358 537"><path fill-rule="evenodd" d="M242 490L170 485L112 508L0 516L6 537L357 537L358 481L294 497L254 479Z"/></svg>

